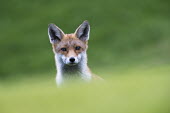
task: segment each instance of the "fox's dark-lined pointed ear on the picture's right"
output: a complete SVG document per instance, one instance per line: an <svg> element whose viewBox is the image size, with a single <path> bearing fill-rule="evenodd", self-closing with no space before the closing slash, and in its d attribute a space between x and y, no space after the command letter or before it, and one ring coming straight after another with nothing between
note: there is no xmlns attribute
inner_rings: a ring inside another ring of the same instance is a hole
<svg viewBox="0 0 170 113"><path fill-rule="evenodd" d="M75 31L75 34L77 38L79 38L82 41L89 40L89 34L90 34L90 24L86 20L84 21Z"/></svg>

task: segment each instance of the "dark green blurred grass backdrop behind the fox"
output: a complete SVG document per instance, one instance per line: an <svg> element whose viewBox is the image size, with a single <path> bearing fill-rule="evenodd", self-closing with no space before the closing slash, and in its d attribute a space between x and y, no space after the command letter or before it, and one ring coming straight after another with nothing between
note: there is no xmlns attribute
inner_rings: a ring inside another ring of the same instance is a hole
<svg viewBox="0 0 170 113"><path fill-rule="evenodd" d="M0 2L1 78L55 72L47 36L47 25L52 22L70 33L83 20L90 21L88 56L92 69L170 63L167 0Z"/></svg>

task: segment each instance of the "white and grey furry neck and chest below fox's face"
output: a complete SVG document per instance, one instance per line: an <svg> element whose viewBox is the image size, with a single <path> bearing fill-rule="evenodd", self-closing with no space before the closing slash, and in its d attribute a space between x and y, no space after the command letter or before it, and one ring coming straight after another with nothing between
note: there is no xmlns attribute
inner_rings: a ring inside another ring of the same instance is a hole
<svg viewBox="0 0 170 113"><path fill-rule="evenodd" d="M87 54L82 53L82 59L77 65L69 66L64 64L59 54L55 55L57 68L57 84L62 83L66 79L81 78L83 80L90 80L91 73L87 66Z"/></svg>

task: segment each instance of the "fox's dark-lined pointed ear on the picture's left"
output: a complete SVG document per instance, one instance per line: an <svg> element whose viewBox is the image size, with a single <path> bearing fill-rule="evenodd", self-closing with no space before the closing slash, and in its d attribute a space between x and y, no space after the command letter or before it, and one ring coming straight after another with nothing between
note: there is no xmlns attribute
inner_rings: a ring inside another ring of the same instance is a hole
<svg viewBox="0 0 170 113"><path fill-rule="evenodd" d="M55 24L49 24L48 25L48 36L49 36L50 42L54 44L63 38L64 32L59 27L57 27Z"/></svg>

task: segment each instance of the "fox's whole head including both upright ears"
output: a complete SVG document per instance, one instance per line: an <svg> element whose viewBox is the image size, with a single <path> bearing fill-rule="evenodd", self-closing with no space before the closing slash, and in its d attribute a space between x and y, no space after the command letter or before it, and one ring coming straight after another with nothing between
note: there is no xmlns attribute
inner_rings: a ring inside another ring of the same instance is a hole
<svg viewBox="0 0 170 113"><path fill-rule="evenodd" d="M48 35L57 59L69 66L79 64L86 57L90 25L84 21L74 33L65 34L55 24L49 24Z"/></svg>

